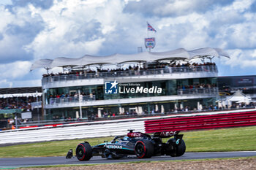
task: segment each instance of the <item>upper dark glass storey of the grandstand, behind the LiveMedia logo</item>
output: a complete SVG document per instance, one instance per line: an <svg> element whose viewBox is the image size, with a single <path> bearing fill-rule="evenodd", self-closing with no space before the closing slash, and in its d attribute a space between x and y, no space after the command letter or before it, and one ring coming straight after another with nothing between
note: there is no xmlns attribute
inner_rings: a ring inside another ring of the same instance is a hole
<svg viewBox="0 0 256 170"><path fill-rule="evenodd" d="M162 88L162 93L117 93L107 94L105 93L105 85L86 85L86 86L73 86L64 88L50 88L43 91L45 95L45 104L50 103L50 98L56 98L58 96L75 96L78 94L78 90L84 96L95 95L95 100L106 100L106 99L117 99L117 98L139 98L149 96L171 96L177 95L177 90L200 88L200 85L208 85L206 88L216 87L217 78L195 78L195 79L182 79L182 80L160 80L150 82L135 82L139 83L140 87L151 88L157 87ZM120 88L122 88L120 86ZM129 86L129 88L136 88L136 86ZM205 87L204 87L205 88Z"/></svg>

